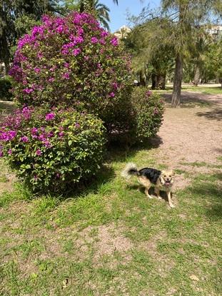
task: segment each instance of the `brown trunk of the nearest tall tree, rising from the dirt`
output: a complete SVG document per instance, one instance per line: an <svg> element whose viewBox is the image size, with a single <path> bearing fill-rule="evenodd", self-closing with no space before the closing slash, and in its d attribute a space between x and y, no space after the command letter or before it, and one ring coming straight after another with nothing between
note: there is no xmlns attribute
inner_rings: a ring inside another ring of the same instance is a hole
<svg viewBox="0 0 222 296"><path fill-rule="evenodd" d="M173 96L171 106L173 108L179 107L181 104L181 84L183 78L183 58L178 53L176 56L176 67L173 79Z"/></svg>

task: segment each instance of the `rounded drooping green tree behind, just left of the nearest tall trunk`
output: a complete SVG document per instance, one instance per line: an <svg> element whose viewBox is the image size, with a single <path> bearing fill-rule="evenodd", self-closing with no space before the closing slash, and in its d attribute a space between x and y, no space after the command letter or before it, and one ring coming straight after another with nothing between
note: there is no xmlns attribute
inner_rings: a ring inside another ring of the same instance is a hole
<svg viewBox="0 0 222 296"><path fill-rule="evenodd" d="M168 19L148 20L136 26L124 42L131 50L133 70L142 85L151 78L153 89L165 88L166 74L173 65L173 46L168 42L170 26Z"/></svg>

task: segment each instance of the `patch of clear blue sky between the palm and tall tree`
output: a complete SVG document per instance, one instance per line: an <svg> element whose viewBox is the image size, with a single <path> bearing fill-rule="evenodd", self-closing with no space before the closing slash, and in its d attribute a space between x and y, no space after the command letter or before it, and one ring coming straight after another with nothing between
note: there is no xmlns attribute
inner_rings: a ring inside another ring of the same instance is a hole
<svg viewBox="0 0 222 296"><path fill-rule="evenodd" d="M118 30L123 25L128 25L126 20L126 11L130 14L137 16L144 6L150 5L150 8L156 8L160 4L160 0L118 0L118 6L113 4L113 0L100 0L102 4L110 9L110 19L109 24L111 32Z"/></svg>

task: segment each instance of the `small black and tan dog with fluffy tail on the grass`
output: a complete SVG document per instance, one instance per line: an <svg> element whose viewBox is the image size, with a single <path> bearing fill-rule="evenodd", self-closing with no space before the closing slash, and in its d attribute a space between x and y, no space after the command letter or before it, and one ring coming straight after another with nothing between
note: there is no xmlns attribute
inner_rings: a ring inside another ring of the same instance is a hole
<svg viewBox="0 0 222 296"><path fill-rule="evenodd" d="M142 168L141 170L138 170L134 163L128 163L121 175L126 179L131 178L131 175L136 175L138 177L138 183L145 187L145 194L148 198L153 198L148 194L151 184L155 186L154 192L156 193L158 199L161 199L160 190L166 191L169 206L174 208L171 201L174 182L173 170L161 171L156 170L155 168Z"/></svg>

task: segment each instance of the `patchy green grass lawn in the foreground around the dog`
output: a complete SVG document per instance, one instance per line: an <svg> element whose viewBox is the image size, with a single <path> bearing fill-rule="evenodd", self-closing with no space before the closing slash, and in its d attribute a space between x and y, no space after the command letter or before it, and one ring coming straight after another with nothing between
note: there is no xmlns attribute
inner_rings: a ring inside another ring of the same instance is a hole
<svg viewBox="0 0 222 296"><path fill-rule="evenodd" d="M0 295L221 295L218 168L177 170L193 181L170 209L120 176L129 161L163 168L155 149L108 159L96 184L70 198L34 198L21 185L1 194Z"/></svg>

